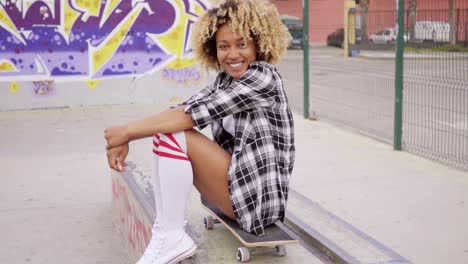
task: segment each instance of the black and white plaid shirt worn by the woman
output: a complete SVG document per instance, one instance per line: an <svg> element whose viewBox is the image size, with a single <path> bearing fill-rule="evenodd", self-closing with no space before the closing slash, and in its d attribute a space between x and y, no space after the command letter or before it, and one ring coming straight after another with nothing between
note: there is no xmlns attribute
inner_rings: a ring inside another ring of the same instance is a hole
<svg viewBox="0 0 468 264"><path fill-rule="evenodd" d="M294 164L293 118L283 81L273 65L254 62L234 80L225 72L189 100L185 112L231 155L228 186L239 225L258 236L283 220ZM233 116L234 135L222 125Z"/></svg>

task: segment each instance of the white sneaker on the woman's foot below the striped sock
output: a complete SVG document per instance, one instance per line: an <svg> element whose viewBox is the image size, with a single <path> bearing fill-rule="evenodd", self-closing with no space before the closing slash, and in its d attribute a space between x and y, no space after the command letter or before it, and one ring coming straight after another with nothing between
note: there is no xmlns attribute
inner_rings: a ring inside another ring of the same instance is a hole
<svg viewBox="0 0 468 264"><path fill-rule="evenodd" d="M173 264L191 257L197 246L184 229L153 230L153 237L136 264Z"/></svg>

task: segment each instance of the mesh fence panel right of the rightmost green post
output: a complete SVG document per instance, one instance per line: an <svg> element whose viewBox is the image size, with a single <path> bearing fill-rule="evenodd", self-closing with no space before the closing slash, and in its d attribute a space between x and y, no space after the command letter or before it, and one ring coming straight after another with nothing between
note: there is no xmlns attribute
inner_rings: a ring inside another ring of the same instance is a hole
<svg viewBox="0 0 468 264"><path fill-rule="evenodd" d="M408 14L402 148L468 169L468 8Z"/></svg>

